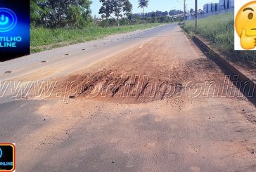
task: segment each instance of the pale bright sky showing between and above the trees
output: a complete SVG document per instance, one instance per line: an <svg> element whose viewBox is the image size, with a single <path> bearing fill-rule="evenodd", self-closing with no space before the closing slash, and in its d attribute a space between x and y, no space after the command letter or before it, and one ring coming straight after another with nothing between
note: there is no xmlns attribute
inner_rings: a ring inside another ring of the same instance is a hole
<svg viewBox="0 0 256 172"><path fill-rule="evenodd" d="M91 0L93 4L91 4L92 15L96 15L100 17L98 14L98 10L101 8L101 3L98 0ZM138 8L137 0L129 0L133 5L132 13L142 13L141 8ZM203 10L204 4L216 3L218 0L198 0L198 9ZM186 0L187 11L191 8L195 8L195 0ZM151 11L170 11L172 9L177 9L184 11L184 0L149 0L148 8L145 8L145 13Z"/></svg>

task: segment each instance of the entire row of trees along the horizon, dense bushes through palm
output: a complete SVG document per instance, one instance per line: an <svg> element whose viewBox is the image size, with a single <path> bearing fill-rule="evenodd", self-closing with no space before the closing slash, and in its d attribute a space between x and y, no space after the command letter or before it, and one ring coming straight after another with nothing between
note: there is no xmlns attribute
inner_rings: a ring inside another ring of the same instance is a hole
<svg viewBox="0 0 256 172"><path fill-rule="evenodd" d="M138 0L137 8L142 14L132 13L129 0L98 0L101 18L91 17L91 0L30 0L30 22L35 27L68 27L82 28L89 25L108 27L113 25L133 25L144 22L172 22L179 20L168 15L183 13L182 11L153 11L144 13L148 0Z"/></svg>

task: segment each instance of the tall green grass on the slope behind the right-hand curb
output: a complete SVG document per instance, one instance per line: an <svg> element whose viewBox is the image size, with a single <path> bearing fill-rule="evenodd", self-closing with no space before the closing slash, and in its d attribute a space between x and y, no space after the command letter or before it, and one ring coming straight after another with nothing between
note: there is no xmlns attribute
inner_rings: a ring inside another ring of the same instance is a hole
<svg viewBox="0 0 256 172"><path fill-rule="evenodd" d="M233 13L223 13L219 15L203 18L198 21L198 30L194 32L194 21L185 22L181 25L188 34L193 37L193 34L199 34L212 43L219 50L228 53L236 54L239 60L249 62L256 67L256 52L255 51L234 51L234 17Z"/></svg>

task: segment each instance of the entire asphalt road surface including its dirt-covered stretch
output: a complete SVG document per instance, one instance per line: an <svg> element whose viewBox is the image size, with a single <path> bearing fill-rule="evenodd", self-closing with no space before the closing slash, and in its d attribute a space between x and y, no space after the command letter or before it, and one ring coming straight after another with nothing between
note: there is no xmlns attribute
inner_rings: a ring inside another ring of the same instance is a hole
<svg viewBox="0 0 256 172"><path fill-rule="evenodd" d="M6 87L17 171L256 171L255 105L178 25L137 33L0 63L1 81L57 83Z"/></svg>

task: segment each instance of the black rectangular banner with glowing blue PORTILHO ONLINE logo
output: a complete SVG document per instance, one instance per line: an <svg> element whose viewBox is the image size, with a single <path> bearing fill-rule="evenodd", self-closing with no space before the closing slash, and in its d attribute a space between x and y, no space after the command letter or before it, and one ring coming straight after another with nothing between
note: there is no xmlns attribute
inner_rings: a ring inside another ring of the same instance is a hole
<svg viewBox="0 0 256 172"><path fill-rule="evenodd" d="M30 54L30 1L0 1L0 61Z"/></svg>

